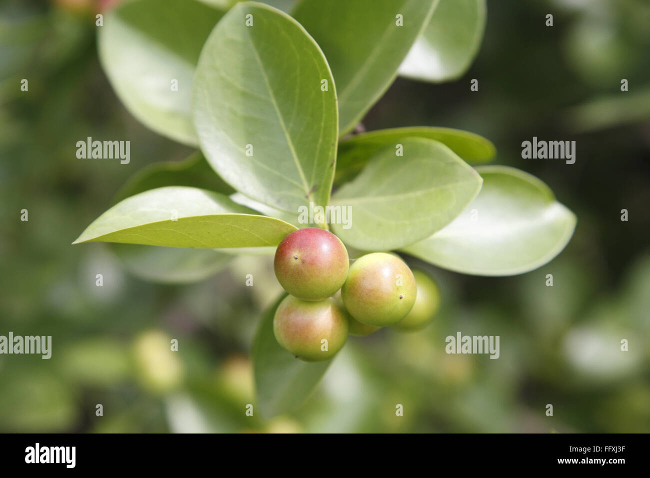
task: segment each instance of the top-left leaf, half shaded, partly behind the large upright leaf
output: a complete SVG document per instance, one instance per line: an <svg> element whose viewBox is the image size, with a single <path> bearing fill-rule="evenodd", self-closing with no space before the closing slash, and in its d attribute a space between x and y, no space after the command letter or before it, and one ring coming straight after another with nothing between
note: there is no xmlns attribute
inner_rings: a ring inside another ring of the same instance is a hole
<svg viewBox="0 0 650 478"><path fill-rule="evenodd" d="M133 1L106 14L98 29L101 66L125 107L153 131L198 144L190 116L192 77L221 16L194 0Z"/></svg>

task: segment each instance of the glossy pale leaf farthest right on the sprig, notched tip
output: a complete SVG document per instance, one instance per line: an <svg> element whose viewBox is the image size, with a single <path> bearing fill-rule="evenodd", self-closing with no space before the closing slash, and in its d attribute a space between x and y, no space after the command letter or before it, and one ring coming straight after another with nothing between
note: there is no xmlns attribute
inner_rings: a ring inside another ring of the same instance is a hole
<svg viewBox="0 0 650 478"><path fill-rule="evenodd" d="M402 250L444 269L478 276L523 274L560 254L577 219L551 189L515 168L476 170L483 187L472 204L443 230Z"/></svg>

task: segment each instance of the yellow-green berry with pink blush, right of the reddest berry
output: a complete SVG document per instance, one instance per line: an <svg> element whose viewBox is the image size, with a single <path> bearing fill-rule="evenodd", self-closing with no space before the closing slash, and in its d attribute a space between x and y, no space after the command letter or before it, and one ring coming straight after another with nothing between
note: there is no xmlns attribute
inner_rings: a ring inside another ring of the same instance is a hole
<svg viewBox="0 0 650 478"><path fill-rule="evenodd" d="M356 259L341 289L350 315L365 325L394 325L415 303L413 272L393 254L373 252Z"/></svg>

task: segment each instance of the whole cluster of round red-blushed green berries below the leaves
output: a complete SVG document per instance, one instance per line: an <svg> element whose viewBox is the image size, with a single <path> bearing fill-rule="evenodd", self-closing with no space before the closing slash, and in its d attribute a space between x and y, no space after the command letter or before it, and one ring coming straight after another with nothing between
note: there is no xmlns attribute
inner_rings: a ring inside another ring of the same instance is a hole
<svg viewBox="0 0 650 478"><path fill-rule="evenodd" d="M278 343L305 362L331 358L348 334L365 336L389 325L422 328L439 307L437 284L424 272L384 252L350 265L341 240L324 229L287 235L274 269L290 295L276 310L273 330Z"/></svg>

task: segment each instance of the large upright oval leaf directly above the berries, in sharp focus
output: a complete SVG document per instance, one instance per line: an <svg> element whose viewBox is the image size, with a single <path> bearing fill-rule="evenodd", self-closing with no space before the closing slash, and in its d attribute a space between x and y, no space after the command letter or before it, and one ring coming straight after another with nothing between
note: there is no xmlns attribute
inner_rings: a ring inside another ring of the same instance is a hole
<svg viewBox="0 0 650 478"><path fill-rule="evenodd" d="M260 3L231 8L205 42L192 104L201 150L240 193L289 212L328 203L335 88L318 45L287 14Z"/></svg>

